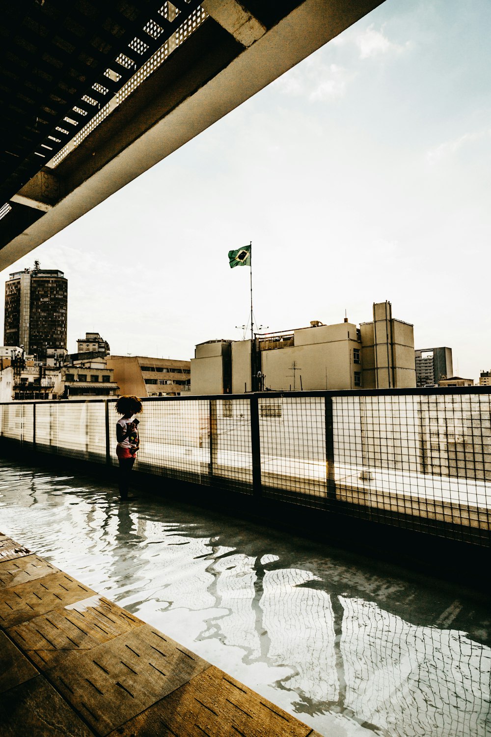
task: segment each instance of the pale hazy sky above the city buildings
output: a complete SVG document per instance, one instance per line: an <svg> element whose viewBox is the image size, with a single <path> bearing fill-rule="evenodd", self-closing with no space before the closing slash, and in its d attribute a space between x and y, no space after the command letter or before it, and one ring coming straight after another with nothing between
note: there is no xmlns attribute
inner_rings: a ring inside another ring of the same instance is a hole
<svg viewBox="0 0 491 737"><path fill-rule="evenodd" d="M68 351L189 359L269 331L414 324L454 374L491 368L491 3L386 0L152 170L0 274L68 278ZM3 287L1 293L3 294ZM3 310L1 310L3 318ZM3 330L2 330L3 337Z"/></svg>

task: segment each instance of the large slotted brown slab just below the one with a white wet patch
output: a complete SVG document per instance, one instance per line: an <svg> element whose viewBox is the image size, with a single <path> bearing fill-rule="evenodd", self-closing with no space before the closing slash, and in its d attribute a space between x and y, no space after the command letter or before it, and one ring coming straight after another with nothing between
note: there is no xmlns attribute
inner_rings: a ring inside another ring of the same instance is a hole
<svg viewBox="0 0 491 737"><path fill-rule="evenodd" d="M68 654L63 666L46 677L103 736L207 667L205 660L145 624L85 657Z"/></svg>

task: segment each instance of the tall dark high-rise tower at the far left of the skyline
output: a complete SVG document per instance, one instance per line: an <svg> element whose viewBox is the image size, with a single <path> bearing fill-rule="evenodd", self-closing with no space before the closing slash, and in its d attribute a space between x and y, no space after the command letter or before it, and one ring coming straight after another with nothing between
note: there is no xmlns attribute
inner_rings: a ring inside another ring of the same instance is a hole
<svg viewBox="0 0 491 737"><path fill-rule="evenodd" d="M66 350L68 282L63 271L33 269L10 274L5 283L4 343L45 360L48 349Z"/></svg>

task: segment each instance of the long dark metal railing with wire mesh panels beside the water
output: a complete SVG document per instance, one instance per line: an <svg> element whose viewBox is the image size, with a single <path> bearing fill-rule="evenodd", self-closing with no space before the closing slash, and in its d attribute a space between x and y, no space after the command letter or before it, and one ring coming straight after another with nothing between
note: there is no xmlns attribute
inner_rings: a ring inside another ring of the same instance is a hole
<svg viewBox="0 0 491 737"><path fill-rule="evenodd" d="M1 436L116 465L115 401L5 403ZM152 397L140 436L135 470L490 546L489 387Z"/></svg>

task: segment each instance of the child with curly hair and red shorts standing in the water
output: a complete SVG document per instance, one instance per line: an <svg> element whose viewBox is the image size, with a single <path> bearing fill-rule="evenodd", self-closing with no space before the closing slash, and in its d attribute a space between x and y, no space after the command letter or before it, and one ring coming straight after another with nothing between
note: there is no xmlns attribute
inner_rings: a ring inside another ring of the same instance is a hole
<svg viewBox="0 0 491 737"><path fill-rule="evenodd" d="M116 412L121 419L116 422L116 455L119 461L119 495L121 501L127 501L130 487L130 471L135 464L136 453L140 447L138 435L139 420L135 415L143 411L143 405L138 397L119 397L116 402Z"/></svg>

